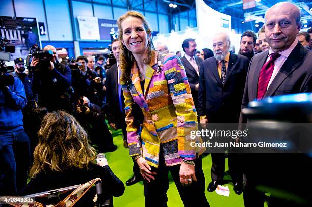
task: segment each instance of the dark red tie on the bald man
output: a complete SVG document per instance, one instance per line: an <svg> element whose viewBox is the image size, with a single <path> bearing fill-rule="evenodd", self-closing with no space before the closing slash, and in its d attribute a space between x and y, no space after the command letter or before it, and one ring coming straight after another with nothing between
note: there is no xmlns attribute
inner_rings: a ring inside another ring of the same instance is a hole
<svg viewBox="0 0 312 207"><path fill-rule="evenodd" d="M274 61L278 57L280 57L280 54L272 53L270 55L270 60L267 63L265 63L260 70L258 82L258 97L257 97L258 99L262 99L267 91L267 87L274 69Z"/></svg>

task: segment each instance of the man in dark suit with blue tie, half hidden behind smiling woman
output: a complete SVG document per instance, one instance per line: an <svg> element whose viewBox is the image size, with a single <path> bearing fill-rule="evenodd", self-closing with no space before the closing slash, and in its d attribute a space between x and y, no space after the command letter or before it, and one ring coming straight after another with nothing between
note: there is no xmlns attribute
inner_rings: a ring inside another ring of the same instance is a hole
<svg viewBox="0 0 312 207"><path fill-rule="evenodd" d="M106 74L106 114L110 126L117 130L121 129L123 134L124 146L127 147L127 131L124 113L124 97L119 84L120 68L119 68L119 40L112 41L112 51L117 63L108 69ZM140 169L136 163L133 166L134 175L126 181L126 185L130 186L142 180Z"/></svg>

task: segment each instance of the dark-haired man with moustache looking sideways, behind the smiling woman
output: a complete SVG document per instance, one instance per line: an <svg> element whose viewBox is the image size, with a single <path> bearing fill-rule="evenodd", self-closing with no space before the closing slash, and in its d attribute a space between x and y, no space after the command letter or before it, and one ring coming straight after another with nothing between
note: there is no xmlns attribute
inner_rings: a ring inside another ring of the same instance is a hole
<svg viewBox="0 0 312 207"><path fill-rule="evenodd" d="M202 59L195 55L197 51L195 39L185 39L182 43L182 49L185 54L181 58L181 62L185 68L185 72L188 77L196 111L198 111L197 97L199 87L199 71Z"/></svg>

